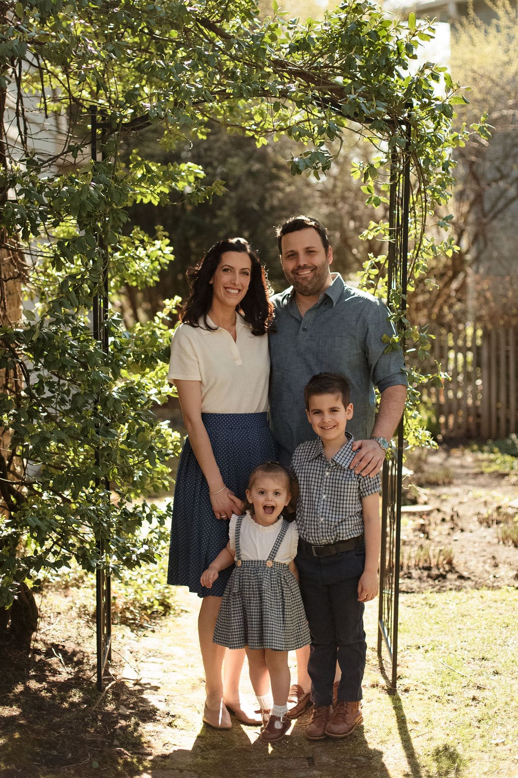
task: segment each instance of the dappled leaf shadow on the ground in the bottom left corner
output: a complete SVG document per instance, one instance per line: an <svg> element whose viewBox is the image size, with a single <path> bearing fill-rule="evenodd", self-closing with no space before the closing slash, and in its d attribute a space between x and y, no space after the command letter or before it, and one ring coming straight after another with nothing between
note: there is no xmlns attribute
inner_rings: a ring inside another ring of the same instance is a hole
<svg viewBox="0 0 518 778"><path fill-rule="evenodd" d="M141 775L141 725L155 717L147 689L116 681L99 695L87 674L92 657L59 643L40 645L31 657L2 649L2 778Z"/></svg>

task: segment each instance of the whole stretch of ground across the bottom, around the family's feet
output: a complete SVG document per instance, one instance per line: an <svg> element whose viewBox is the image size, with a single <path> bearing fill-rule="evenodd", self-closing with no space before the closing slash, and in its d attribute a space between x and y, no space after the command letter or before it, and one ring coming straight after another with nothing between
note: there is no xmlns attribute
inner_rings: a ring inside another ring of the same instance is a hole
<svg viewBox="0 0 518 778"><path fill-rule="evenodd" d="M2 657L0 776L517 778L518 699L507 694L516 676L515 591L403 594L395 695L377 666L377 605L368 604L363 727L342 741L311 742L306 717L273 747L255 727L203 725L195 596L178 591L182 612L155 628L115 627L112 677L99 695L92 622L78 612L77 590L55 592L30 664ZM448 637L443 608L448 624L461 626ZM505 678L496 632L482 654L475 641L466 655L473 612L487 615L486 633L495 615L506 626Z"/></svg>

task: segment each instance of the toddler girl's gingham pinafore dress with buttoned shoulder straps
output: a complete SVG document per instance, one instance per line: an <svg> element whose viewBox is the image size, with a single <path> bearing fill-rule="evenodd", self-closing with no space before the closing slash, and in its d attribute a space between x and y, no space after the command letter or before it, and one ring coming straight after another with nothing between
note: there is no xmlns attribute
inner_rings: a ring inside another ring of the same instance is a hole
<svg viewBox="0 0 518 778"><path fill-rule="evenodd" d="M282 519L268 559L241 559L235 525L235 568L228 581L214 628L214 643L227 648L292 651L310 643L308 620L297 579L284 562L275 562L290 526Z"/></svg>

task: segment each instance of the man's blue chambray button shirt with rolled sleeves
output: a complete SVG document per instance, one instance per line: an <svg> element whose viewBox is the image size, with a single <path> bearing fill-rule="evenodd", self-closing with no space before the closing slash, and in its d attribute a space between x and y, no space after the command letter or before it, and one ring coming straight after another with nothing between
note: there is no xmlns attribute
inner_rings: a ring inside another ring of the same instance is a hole
<svg viewBox="0 0 518 778"><path fill-rule="evenodd" d="M380 391L407 386L401 351L384 353L383 335L394 335L381 300L335 278L318 303L301 317L290 286L273 296L275 331L268 335L269 419L277 457L287 467L299 443L315 438L304 408L304 386L315 373L342 373L349 380L356 440L370 436Z"/></svg>

